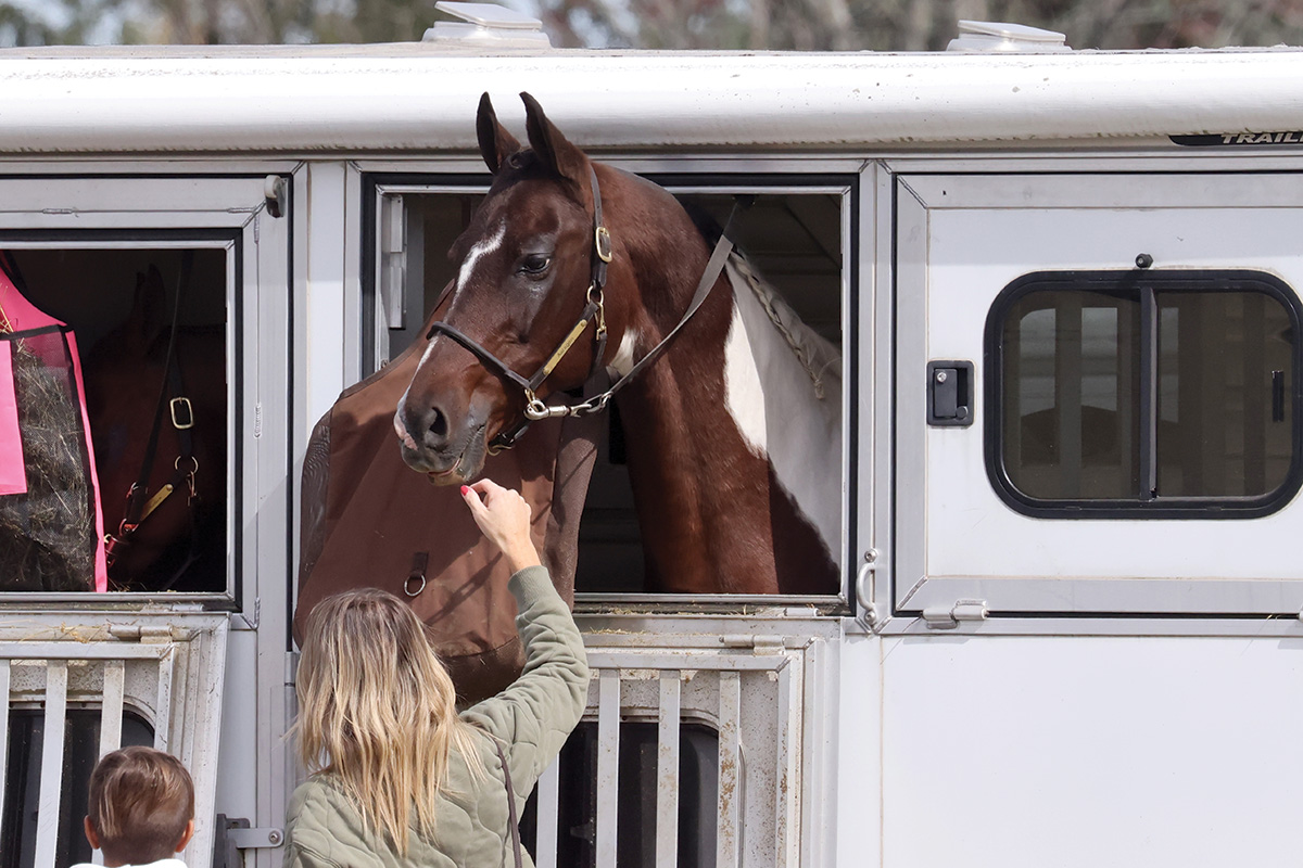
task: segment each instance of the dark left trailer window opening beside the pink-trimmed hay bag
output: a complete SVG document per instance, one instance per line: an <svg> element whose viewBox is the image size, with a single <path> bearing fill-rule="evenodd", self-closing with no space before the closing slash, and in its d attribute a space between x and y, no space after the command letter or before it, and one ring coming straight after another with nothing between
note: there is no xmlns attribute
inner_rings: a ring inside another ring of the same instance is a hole
<svg viewBox="0 0 1303 868"><path fill-rule="evenodd" d="M57 247L22 247L29 241L18 239L9 252L29 301L68 323L81 350L104 532L121 540L108 588L232 595L225 553L233 293L224 249L232 241L76 246L90 237ZM155 450L147 454L151 436ZM129 491L146 462L138 527L125 532Z"/></svg>

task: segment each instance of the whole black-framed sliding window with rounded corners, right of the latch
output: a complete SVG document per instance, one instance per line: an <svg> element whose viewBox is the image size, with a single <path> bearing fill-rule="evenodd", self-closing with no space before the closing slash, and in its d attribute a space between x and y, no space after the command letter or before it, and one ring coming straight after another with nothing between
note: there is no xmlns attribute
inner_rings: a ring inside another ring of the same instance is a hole
<svg viewBox="0 0 1303 868"><path fill-rule="evenodd" d="M1261 515L1299 487L1299 303L1260 272L1041 273L988 320L988 470L1033 515Z"/></svg>

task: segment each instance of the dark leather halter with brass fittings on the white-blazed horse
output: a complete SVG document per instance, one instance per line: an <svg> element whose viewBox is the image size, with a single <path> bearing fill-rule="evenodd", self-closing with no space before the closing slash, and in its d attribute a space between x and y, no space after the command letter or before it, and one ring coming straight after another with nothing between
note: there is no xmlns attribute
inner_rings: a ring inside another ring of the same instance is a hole
<svg viewBox="0 0 1303 868"><path fill-rule="evenodd" d="M652 347L646 355L644 355L638 362L620 377L614 385L611 385L606 392L594 396L580 403L569 405L547 405L536 394L538 387L542 385L543 380L556 368L566 354L575 346L580 334L588 328L590 320L597 321L597 333L594 334L594 351L593 351L593 366L589 370L589 377L598 372L602 367L602 357L606 354L606 310L602 305L602 290L606 286L606 267L611 262L611 233L606 229L602 223L602 193L597 183L597 172L593 170L590 165L588 169L589 183L593 189L593 265L592 265L592 281L588 286L586 305L584 311L580 314L579 320L571 328L569 333L562 340L562 342L552 350L547 360L534 372L528 380L521 375L507 367L507 363L499 359L496 355L486 350L483 346L477 344L473 338L468 337L460 329L448 325L444 321L437 321L430 325L430 331L426 333L425 338L429 341L434 338L435 334L447 334L453 341L465 347L472 353L480 363L486 368L503 377L504 380L513 383L520 387L525 394L525 414L515 426L511 428L504 428L493 440L489 441L489 454L495 455L504 449L511 449L520 440L521 435L529 428L532 422L538 422L539 419L551 419L556 416L579 416L588 415L593 413L601 413L610 403L615 393L623 389L629 380L632 380L640 371L646 368L652 362L654 362L661 353L668 346L670 341L679 333L679 331L687 325L692 315L697 312L702 302L706 301L706 295L714 288L715 281L719 278L721 272L724 268L724 262L728 259L728 254L732 251L732 241L728 236L734 226L734 220L737 213L748 207L754 197L739 197L734 204L732 213L728 215L728 223L724 225L724 230L719 236L718 243L715 243L714 251L710 254L710 260L706 263L706 269L701 275L701 280L697 281L697 290L688 305L688 310L684 312L679 324L675 325L668 334L666 334L659 344ZM451 289L451 288L450 288ZM440 299L442 302L442 299ZM435 305L438 307L438 305Z"/></svg>

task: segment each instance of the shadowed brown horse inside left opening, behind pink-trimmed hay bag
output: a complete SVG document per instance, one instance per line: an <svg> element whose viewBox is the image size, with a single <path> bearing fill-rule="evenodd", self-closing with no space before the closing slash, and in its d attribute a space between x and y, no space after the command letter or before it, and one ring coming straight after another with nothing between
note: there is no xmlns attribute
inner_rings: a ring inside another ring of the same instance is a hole
<svg viewBox="0 0 1303 868"><path fill-rule="evenodd" d="M177 381L164 385L172 337L167 294L156 265L137 275L126 320L96 342L83 366L111 554L109 588L222 591L225 588L225 329L179 324L172 349ZM162 411L160 392L165 392ZM147 459L159 413L156 448ZM130 492L139 484L146 462L145 489L136 517L129 519Z"/></svg>

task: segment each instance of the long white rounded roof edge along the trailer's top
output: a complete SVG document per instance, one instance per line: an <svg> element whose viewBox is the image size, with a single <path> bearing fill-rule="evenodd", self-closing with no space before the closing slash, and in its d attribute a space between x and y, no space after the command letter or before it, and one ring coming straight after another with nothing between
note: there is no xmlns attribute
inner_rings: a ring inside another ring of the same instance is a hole
<svg viewBox="0 0 1303 868"><path fill-rule="evenodd" d="M3 154L474 150L528 90L597 150L864 151L1303 130L1298 48L1048 55L384 46L0 51Z"/></svg>

